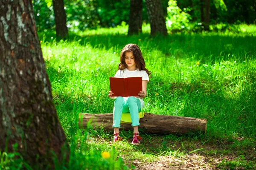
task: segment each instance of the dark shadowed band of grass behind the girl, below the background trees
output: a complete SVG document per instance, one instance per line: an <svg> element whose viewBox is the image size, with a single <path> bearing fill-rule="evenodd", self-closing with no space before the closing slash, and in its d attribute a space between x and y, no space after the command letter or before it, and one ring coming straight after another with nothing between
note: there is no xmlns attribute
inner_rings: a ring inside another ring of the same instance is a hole
<svg viewBox="0 0 256 170"><path fill-rule="evenodd" d="M39 33L44 42L55 41L54 32ZM171 34L166 37L150 37L149 34L127 36L126 34L79 35L70 33L67 41L78 41L80 45L90 44L93 48L112 49L120 52L128 43L136 43L144 54L156 49L176 58L195 57L204 61L229 60L236 58L242 62L256 57L256 37L227 36L215 34ZM145 52L146 51L146 52ZM203 56L203 57L202 57Z"/></svg>

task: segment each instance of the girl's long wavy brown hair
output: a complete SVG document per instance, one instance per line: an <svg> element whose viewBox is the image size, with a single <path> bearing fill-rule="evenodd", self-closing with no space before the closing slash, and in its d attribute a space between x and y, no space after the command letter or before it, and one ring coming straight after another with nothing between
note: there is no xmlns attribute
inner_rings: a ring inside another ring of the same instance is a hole
<svg viewBox="0 0 256 170"><path fill-rule="evenodd" d="M120 64L118 66L119 70L123 70L123 69L127 68L127 65L125 63L125 52L133 53L135 64L140 71L145 70L147 72L148 76L151 74L151 71L148 71L148 69L145 68L145 66L146 66L145 60L140 51L140 47L136 44L127 44L122 49L121 54L120 54Z"/></svg>

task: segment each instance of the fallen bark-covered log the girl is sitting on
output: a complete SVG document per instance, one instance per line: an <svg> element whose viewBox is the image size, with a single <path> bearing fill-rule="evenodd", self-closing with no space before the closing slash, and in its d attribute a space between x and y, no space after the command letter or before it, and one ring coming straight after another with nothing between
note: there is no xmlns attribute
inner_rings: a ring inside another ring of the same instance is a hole
<svg viewBox="0 0 256 170"><path fill-rule="evenodd" d="M104 127L106 130L113 130L113 113L105 114L90 114L80 113L79 127L86 128L90 122L93 128ZM140 119L139 129L143 129L146 133L155 134L182 134L189 132L206 133L207 119L182 117L182 116L167 116L145 113L145 116ZM131 124L122 124L120 129L133 130Z"/></svg>

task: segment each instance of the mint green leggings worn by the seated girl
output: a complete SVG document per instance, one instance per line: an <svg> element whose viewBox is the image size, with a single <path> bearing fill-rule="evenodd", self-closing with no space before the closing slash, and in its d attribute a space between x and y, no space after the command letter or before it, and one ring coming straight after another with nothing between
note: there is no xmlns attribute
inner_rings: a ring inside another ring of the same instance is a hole
<svg viewBox="0 0 256 170"><path fill-rule="evenodd" d="M128 97L117 97L114 102L113 111L113 127L120 127L122 113L130 112L131 115L131 126L139 126L139 111L141 111L140 100L134 96Z"/></svg>

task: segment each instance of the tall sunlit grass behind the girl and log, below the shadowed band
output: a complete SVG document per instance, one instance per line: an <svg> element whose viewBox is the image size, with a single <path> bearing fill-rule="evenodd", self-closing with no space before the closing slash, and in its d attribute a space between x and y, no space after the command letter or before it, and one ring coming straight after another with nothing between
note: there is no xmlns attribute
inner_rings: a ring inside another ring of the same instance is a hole
<svg viewBox="0 0 256 170"><path fill-rule="evenodd" d="M171 37L173 36L169 38ZM97 36L93 38L99 39ZM240 38L247 41L247 38ZM161 37L155 39L151 43L162 40ZM117 45L108 49L104 45L102 48L95 47L90 44L91 41L81 45L82 40L53 41L42 45L43 51L47 52L44 57L55 103L70 100L83 104L81 112L112 112L113 100L107 97L108 77L117 71L117 49L120 44L118 41L110 41ZM181 45L181 41L177 42ZM181 56L175 52L183 50L180 46L173 46L175 51L163 52L147 41L141 40L141 43L147 68L152 71L144 111L208 119L208 130L213 136L233 136L234 133L241 133L243 136L256 135L255 52L241 53L244 47L237 45L238 54L226 55L220 52L212 60L213 55L198 55L197 48L190 50L189 53L193 55L183 53ZM160 43L169 45L166 39ZM204 44L203 41L198 43ZM214 48L214 41L209 39L207 43ZM215 51L218 52L218 48Z"/></svg>

